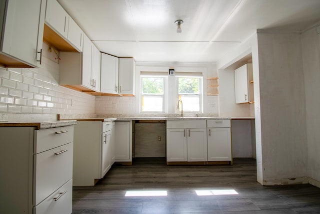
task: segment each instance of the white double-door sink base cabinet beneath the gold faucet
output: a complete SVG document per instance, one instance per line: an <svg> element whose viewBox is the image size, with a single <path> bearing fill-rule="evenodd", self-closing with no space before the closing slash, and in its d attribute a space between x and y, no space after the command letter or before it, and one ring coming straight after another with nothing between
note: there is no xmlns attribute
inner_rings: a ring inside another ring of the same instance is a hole
<svg viewBox="0 0 320 214"><path fill-rule="evenodd" d="M185 161L205 164L207 161L206 120L168 120L166 127L168 164Z"/></svg>

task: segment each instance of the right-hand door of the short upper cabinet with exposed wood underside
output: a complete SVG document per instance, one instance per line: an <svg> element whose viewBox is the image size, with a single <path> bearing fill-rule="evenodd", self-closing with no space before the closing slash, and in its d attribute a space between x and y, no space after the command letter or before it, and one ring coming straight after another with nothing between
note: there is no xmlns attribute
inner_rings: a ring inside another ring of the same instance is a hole
<svg viewBox="0 0 320 214"><path fill-rule="evenodd" d="M77 48L79 52L82 52L83 31L71 17L69 17L68 24L68 40L72 43L72 45L75 48Z"/></svg>

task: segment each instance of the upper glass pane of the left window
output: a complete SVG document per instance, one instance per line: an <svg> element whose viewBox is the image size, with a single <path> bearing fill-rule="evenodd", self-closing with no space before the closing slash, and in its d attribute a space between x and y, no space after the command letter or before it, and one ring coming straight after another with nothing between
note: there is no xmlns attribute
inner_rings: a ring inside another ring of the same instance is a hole
<svg viewBox="0 0 320 214"><path fill-rule="evenodd" d="M163 78L142 77L142 94L163 94Z"/></svg>

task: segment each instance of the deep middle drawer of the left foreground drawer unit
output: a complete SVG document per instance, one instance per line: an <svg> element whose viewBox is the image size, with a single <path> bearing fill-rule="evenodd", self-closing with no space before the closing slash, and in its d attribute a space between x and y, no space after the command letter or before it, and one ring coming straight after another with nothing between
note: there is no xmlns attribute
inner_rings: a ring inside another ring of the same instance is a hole
<svg viewBox="0 0 320 214"><path fill-rule="evenodd" d="M72 154L73 143L68 143L33 156L33 205L72 178Z"/></svg>

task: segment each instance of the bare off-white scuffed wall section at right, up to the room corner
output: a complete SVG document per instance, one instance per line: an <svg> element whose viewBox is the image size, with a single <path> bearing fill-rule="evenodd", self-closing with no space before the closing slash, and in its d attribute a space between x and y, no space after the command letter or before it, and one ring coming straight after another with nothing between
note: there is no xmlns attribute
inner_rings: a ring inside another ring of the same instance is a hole
<svg viewBox="0 0 320 214"><path fill-rule="evenodd" d="M285 184L288 178L299 182L307 175L300 38L295 33L257 33L263 184L267 185Z"/></svg>

